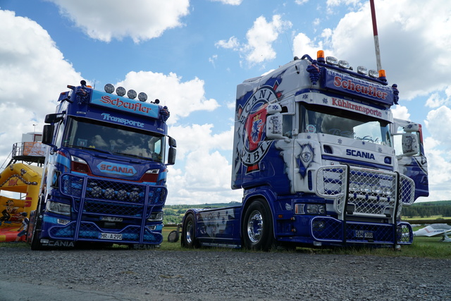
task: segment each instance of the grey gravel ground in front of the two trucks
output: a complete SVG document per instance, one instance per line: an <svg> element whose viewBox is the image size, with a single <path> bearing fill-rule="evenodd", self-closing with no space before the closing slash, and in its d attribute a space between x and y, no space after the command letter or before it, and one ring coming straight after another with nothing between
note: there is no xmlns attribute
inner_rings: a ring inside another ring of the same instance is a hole
<svg viewBox="0 0 451 301"><path fill-rule="evenodd" d="M449 259L4 247L0 266L2 301L451 300Z"/></svg>

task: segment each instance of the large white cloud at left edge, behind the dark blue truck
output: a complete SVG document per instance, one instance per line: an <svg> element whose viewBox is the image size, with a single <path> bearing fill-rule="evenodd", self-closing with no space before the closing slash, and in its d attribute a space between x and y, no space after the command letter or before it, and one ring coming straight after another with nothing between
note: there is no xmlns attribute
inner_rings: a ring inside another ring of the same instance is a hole
<svg viewBox="0 0 451 301"><path fill-rule="evenodd" d="M60 92L68 90L66 85L77 85L82 78L35 21L0 10L0 37L3 164L23 133L42 130L45 115L55 111Z"/></svg>

